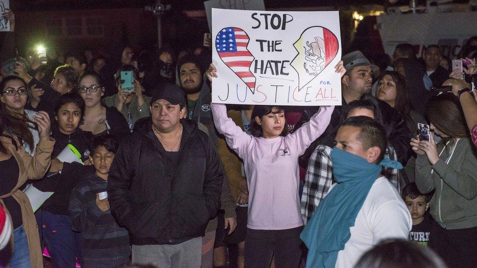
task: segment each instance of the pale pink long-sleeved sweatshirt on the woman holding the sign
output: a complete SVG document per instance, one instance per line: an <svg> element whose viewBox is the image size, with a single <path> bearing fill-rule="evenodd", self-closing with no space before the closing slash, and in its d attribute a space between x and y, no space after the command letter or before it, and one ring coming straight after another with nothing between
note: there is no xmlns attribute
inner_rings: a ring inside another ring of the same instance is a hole
<svg viewBox="0 0 477 268"><path fill-rule="evenodd" d="M283 230L303 225L298 196L298 157L325 131L334 106L323 106L310 121L285 137L248 135L227 117L225 104L212 103L214 123L243 160L248 185L247 227Z"/></svg>

